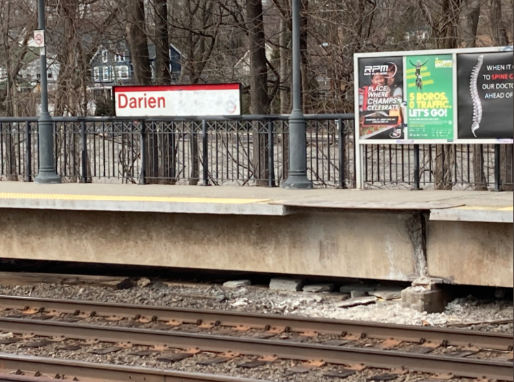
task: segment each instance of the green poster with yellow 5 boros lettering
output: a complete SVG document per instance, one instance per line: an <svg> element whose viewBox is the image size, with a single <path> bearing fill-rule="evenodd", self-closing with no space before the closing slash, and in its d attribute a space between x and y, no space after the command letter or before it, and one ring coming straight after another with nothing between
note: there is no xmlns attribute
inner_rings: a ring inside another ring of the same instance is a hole
<svg viewBox="0 0 514 382"><path fill-rule="evenodd" d="M408 139L454 139L453 66L450 54L406 57Z"/></svg>

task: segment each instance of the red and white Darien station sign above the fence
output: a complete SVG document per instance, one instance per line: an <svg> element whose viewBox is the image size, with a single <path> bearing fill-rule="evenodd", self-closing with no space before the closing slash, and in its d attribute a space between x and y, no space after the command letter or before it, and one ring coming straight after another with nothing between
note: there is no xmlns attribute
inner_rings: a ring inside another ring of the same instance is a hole
<svg viewBox="0 0 514 382"><path fill-rule="evenodd" d="M120 117L241 115L241 85L114 86Z"/></svg>

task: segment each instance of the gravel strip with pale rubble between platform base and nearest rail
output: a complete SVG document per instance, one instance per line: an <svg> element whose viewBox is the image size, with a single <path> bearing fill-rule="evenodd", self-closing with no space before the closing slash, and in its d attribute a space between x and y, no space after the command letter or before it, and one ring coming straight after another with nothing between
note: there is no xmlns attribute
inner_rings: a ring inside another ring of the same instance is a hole
<svg viewBox="0 0 514 382"><path fill-rule="evenodd" d="M474 324L463 329L513 333L513 324L488 324L487 321L513 319L512 301L478 300L472 296L457 298L441 314L420 313L401 306L399 300L381 301L366 306L337 307L346 296L336 293L313 294L307 292L279 292L267 288L246 286L223 288L219 285L178 283L151 283L145 287L134 286L127 290L110 290L97 287L38 284L2 286L0 294L40 298L66 298L99 301L187 307L193 309L222 309L260 314L296 315L313 318L387 322L425 326L450 326Z"/></svg>

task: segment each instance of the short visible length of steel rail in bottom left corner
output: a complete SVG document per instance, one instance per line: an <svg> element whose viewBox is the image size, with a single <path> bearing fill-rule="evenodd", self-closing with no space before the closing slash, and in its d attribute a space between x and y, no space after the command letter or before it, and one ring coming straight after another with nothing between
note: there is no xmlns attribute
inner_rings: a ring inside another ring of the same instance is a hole
<svg viewBox="0 0 514 382"><path fill-rule="evenodd" d="M256 379L239 377L223 377L212 374L174 372L110 364L93 364L84 361L8 355L5 353L0 353L0 369L23 370L25 372L38 371L41 374L53 375L58 372L61 375L66 375L66 377L76 377L80 380L94 379L97 381L116 382L262 382Z"/></svg>

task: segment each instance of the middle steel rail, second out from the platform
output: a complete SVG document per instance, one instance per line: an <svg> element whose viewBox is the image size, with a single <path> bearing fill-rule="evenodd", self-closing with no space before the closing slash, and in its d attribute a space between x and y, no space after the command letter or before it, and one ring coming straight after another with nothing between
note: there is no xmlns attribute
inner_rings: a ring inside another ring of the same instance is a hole
<svg viewBox="0 0 514 382"><path fill-rule="evenodd" d="M16 334L34 333L52 338L64 336L71 340L95 339L101 342L130 342L140 346L164 345L180 349L200 348L202 351L217 353L231 351L242 355L274 355L281 359L300 361L322 359L330 364L365 364L376 368L406 368L417 372L446 372L458 377L486 377L501 381L514 381L511 362L422 355L374 348L302 344L225 335L104 327L17 318L1 318L0 330Z"/></svg>

